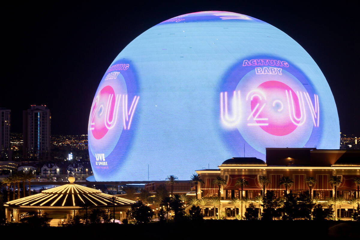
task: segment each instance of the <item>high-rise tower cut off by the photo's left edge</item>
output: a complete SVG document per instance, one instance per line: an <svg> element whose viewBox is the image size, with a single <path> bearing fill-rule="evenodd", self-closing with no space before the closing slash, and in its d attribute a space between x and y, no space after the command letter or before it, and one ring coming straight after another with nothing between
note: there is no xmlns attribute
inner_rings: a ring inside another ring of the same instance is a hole
<svg viewBox="0 0 360 240"><path fill-rule="evenodd" d="M11 110L0 108L0 160L11 160L10 150L10 115Z"/></svg>

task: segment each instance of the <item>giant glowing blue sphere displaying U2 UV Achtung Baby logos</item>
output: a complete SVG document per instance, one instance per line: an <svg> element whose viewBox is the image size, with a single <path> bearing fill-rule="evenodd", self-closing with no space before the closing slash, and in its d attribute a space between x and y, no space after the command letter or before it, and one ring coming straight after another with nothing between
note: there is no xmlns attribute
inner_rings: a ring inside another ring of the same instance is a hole
<svg viewBox="0 0 360 240"><path fill-rule="evenodd" d="M332 92L279 29L229 12L168 19L109 66L89 117L96 181L188 179L265 148L339 148Z"/></svg>

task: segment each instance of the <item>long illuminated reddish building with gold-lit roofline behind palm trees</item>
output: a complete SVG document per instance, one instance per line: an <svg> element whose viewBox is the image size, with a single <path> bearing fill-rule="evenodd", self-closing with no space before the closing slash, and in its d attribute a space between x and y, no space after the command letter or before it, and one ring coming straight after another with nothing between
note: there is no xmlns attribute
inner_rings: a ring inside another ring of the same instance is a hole
<svg viewBox="0 0 360 240"><path fill-rule="evenodd" d="M327 208L325 200L334 196L334 186L329 183L331 176L340 176L341 184L337 185L337 196L342 196L346 201L341 210L337 204L337 216L350 218L353 206L349 203L357 196L355 177L360 177L360 150L317 150L315 148L267 148L266 163L257 158L231 158L224 161L218 169L204 169L196 171L204 184L198 184L198 198L217 196L218 186L213 180L220 176L226 184L221 186L221 212L228 217L235 217L235 210L239 209L229 204L232 198L240 198L240 187L235 186L236 181L246 179L248 185L243 187L243 197L248 198L258 207L256 196L262 195L263 185L261 176L270 180L265 191L274 191L278 198L284 197L285 187L280 185L279 179L288 176L293 180L289 193L309 192L306 183L307 177L316 179L312 185L311 195L318 199L318 203ZM207 205L207 211L213 206ZM240 205L239 205L240 207ZM231 213L232 212L232 213ZM243 204L243 213L245 207ZM206 217L214 217L214 210L206 212Z"/></svg>

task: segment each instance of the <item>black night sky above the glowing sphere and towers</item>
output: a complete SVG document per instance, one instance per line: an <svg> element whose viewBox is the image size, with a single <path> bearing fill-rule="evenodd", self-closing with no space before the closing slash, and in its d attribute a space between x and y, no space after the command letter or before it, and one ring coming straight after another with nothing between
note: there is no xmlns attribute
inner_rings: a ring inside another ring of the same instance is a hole
<svg viewBox="0 0 360 240"><path fill-rule="evenodd" d="M20 3L2 6L0 107L45 104L52 134L86 134L91 103L109 64L136 36L177 15L223 10L272 24L296 40L323 71L333 92L340 129L360 135L358 6L316 1L116 1Z"/></svg>

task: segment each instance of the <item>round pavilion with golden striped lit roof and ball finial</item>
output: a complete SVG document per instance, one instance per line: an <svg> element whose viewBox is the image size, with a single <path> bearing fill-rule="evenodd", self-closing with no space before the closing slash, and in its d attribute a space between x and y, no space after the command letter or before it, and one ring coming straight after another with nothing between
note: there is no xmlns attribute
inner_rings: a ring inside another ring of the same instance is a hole
<svg viewBox="0 0 360 240"><path fill-rule="evenodd" d="M48 213L53 220L51 226L70 216L85 212L85 206L113 211L117 219L126 217L126 211L135 201L102 193L100 190L74 184L75 177L69 177L69 184L41 191L39 194L8 201L4 204L6 221L19 222L30 211Z"/></svg>

